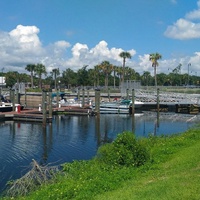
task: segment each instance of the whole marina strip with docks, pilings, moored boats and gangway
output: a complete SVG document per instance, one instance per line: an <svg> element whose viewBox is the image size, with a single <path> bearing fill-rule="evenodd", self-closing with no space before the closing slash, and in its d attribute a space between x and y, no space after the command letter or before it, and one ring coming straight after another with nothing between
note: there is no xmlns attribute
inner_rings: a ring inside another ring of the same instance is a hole
<svg viewBox="0 0 200 200"><path fill-rule="evenodd" d="M199 94L136 90L134 94L130 94L127 91L127 95L123 99L120 94L106 95L105 93L100 93L100 91L90 92L90 94L61 94L62 98L60 98L59 93L57 95L56 93L52 94L53 100L51 100L50 97L52 96L49 92L43 92L40 95L20 94L19 102L14 100L16 102L14 108L6 106L8 103L2 102L0 120L12 119L14 121L49 123L52 121L52 116L58 114L93 116L108 113L132 114L132 112L143 111L198 114L200 110ZM38 103L30 106L30 100ZM135 102L134 108L132 107L132 101ZM36 105L38 106L36 107ZM4 110L5 108L7 109Z"/></svg>

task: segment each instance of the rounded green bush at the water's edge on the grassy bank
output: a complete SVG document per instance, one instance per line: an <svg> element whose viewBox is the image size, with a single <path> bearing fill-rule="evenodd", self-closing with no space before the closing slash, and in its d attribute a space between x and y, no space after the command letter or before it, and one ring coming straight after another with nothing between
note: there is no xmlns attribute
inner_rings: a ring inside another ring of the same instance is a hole
<svg viewBox="0 0 200 200"><path fill-rule="evenodd" d="M109 165L138 167L150 158L150 154L133 133L123 132L111 144L101 146L96 158Z"/></svg>

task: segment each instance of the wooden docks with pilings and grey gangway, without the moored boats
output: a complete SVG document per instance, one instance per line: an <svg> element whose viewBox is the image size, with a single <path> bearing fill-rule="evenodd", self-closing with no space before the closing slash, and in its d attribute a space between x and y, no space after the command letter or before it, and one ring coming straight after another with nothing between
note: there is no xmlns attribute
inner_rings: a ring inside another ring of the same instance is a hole
<svg viewBox="0 0 200 200"><path fill-rule="evenodd" d="M98 95L97 95L98 93ZM133 97L134 94L134 97ZM105 93L98 90L87 91L84 90L79 93L65 93L64 98L79 98L82 105L78 106L60 106L57 104L53 107L51 92L43 93L25 93L19 95L19 101L22 105L26 105L20 112L2 112L0 113L0 120L14 120L26 122L42 122L49 123L52 121L52 115L88 115L93 116L98 114L97 111L92 110L89 105L89 99L95 104L101 101L110 101L114 99L126 98L135 99L143 103L141 111L159 111L159 112L175 112L186 114L198 114L200 112L200 94L186 94L175 92L163 92L153 90L134 90L127 89L126 94L122 96L120 93ZM96 100L97 99L97 100ZM84 102L83 102L84 101Z"/></svg>

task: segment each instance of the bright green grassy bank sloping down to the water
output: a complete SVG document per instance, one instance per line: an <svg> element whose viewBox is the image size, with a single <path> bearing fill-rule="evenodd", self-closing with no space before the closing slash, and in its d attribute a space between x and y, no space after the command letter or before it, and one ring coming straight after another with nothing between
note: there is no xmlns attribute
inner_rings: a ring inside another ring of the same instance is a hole
<svg viewBox="0 0 200 200"><path fill-rule="evenodd" d="M130 145L124 150L119 142L103 147L90 161L64 164L57 178L13 199L200 199L199 128L139 140L137 149L131 147L137 151L133 156Z"/></svg>

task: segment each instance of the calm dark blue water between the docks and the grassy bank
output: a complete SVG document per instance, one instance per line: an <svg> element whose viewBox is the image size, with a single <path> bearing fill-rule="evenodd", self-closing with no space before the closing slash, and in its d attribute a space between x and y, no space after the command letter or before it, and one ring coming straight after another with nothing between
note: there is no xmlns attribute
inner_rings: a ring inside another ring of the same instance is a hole
<svg viewBox="0 0 200 200"><path fill-rule="evenodd" d="M0 192L10 179L30 168L32 159L40 164L58 165L92 158L103 142L110 142L123 130L138 137L149 134L174 134L187 130L198 121L191 115L104 114L88 116L54 116L52 124L0 122Z"/></svg>

